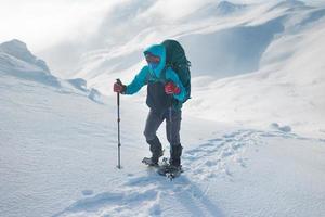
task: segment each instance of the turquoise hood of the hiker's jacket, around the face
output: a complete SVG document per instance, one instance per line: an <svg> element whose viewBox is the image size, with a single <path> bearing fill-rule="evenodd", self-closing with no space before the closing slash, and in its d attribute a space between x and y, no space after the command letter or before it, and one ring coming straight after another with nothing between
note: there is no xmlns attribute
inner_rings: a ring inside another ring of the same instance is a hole
<svg viewBox="0 0 325 217"><path fill-rule="evenodd" d="M154 74L157 78L159 78L161 71L166 65L166 49L161 44L153 44L143 52L144 55L147 53L152 53L160 58L160 62L157 67L153 68L152 65L148 64L150 72Z"/></svg>

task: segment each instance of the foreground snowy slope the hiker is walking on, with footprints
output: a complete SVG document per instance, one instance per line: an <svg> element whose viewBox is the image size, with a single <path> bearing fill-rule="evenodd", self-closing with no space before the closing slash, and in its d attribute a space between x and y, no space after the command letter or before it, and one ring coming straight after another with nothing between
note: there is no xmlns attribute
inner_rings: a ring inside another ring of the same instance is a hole
<svg viewBox="0 0 325 217"><path fill-rule="evenodd" d="M5 68L0 69L0 216L302 217L325 212L324 139L275 124L249 129L184 115L185 173L170 182L141 164L148 155L143 100L121 99L119 170L115 97L96 103L80 79L73 81L77 88L57 78L61 85L53 86L40 77L11 75L22 67L20 61L12 71L6 62L0 65ZM159 136L168 156L164 129Z"/></svg>

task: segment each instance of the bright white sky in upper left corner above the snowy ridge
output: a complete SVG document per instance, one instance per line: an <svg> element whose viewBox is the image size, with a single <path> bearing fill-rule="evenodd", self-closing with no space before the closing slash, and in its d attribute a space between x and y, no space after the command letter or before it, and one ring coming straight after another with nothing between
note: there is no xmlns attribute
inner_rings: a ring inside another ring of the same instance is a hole
<svg viewBox="0 0 325 217"><path fill-rule="evenodd" d="M34 52L88 34L118 0L0 0L0 42L20 39Z"/></svg>

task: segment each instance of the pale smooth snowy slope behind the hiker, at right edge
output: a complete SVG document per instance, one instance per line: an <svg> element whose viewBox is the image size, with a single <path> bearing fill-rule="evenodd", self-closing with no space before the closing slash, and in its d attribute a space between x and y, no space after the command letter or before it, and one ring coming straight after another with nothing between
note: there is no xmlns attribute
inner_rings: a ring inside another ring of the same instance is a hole
<svg viewBox="0 0 325 217"><path fill-rule="evenodd" d="M325 15L324 10L316 10L301 17L298 11L286 18L287 34L268 47L257 72L218 80L196 91L188 112L244 125L280 122L295 131L324 137L325 64L321 56L325 52L325 20L318 21L320 12Z"/></svg>

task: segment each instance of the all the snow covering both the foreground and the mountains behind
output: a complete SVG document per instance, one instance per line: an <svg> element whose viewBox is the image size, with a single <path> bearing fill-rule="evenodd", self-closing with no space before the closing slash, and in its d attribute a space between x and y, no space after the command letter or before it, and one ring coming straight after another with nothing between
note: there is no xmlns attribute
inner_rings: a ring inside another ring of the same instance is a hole
<svg viewBox="0 0 325 217"><path fill-rule="evenodd" d="M133 11L139 2L121 3L113 17L133 20L128 35L84 53L68 79L24 42L0 44L0 216L322 216L324 5L207 1L199 16L147 27L136 24L161 2L141 1ZM116 25L110 39L125 28ZM112 91L116 78L129 81L144 64L143 48L169 37L193 64L184 173L173 181L141 163L150 154L145 90L121 97L122 169L116 167Z"/></svg>

